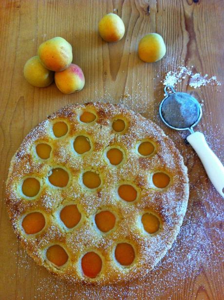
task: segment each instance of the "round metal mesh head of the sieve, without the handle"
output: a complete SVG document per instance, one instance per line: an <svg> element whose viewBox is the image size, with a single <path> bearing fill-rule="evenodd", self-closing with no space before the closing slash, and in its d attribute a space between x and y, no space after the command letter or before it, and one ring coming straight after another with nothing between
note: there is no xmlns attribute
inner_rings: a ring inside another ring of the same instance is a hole
<svg viewBox="0 0 224 300"><path fill-rule="evenodd" d="M161 119L170 128L176 130L188 129L193 133L193 127L202 117L202 108L199 102L187 93L176 92L169 85L164 88L164 91L166 97L159 107Z"/></svg>

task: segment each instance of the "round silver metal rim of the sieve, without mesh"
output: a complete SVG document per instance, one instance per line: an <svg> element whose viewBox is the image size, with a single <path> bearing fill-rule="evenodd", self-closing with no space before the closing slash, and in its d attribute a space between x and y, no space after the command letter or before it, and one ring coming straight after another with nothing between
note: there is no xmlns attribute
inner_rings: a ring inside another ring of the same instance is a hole
<svg viewBox="0 0 224 300"><path fill-rule="evenodd" d="M172 91L172 93L168 93L167 92L167 89L170 89ZM162 115L162 106L163 106L163 103L165 100L167 100L167 98L173 94L176 94L177 92L174 90L174 88L170 85L166 85L165 88L164 88L164 91L166 93L166 97L160 102L160 105L159 105L159 115L160 115L160 118L162 119L162 121L169 127L169 128L172 128L172 129L175 129L175 130L179 130L179 131L183 131L183 130L189 130L191 133L194 133L194 130L193 130L193 127L196 126L198 124L198 122L201 120L202 118L202 107L201 105L199 104L199 102L195 99L195 101L197 102L198 106L199 106L199 115L198 115L198 118L197 120L190 126L190 127L185 127L185 128L178 128L178 127L174 127L172 125L170 125L163 117ZM178 93L184 93L184 92L178 92ZM187 94L187 93L186 93Z"/></svg>

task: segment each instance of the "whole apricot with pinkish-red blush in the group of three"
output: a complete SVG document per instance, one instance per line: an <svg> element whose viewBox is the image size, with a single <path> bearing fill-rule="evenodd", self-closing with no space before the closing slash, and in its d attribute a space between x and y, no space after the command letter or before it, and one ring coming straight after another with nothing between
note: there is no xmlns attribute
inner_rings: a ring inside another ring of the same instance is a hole
<svg viewBox="0 0 224 300"><path fill-rule="evenodd" d="M72 94L83 89L85 77L82 69L74 63L64 71L55 73L57 88L64 94Z"/></svg>

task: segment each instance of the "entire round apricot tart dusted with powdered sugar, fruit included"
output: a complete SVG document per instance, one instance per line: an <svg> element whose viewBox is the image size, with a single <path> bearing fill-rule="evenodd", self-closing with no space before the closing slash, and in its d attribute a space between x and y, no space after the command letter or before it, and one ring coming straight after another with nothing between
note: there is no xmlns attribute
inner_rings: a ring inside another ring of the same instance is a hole
<svg viewBox="0 0 224 300"><path fill-rule="evenodd" d="M100 102L66 106L37 125L6 189L27 253L60 278L98 284L149 272L176 239L187 200L173 142L141 115Z"/></svg>

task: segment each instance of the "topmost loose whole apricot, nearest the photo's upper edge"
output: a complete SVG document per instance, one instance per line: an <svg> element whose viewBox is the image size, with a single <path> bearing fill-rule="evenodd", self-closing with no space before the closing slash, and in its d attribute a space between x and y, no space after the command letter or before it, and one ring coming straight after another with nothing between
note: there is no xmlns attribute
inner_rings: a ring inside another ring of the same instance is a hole
<svg viewBox="0 0 224 300"><path fill-rule="evenodd" d="M125 25L120 17L107 14L99 21L99 34L108 42L121 40L125 34Z"/></svg>

